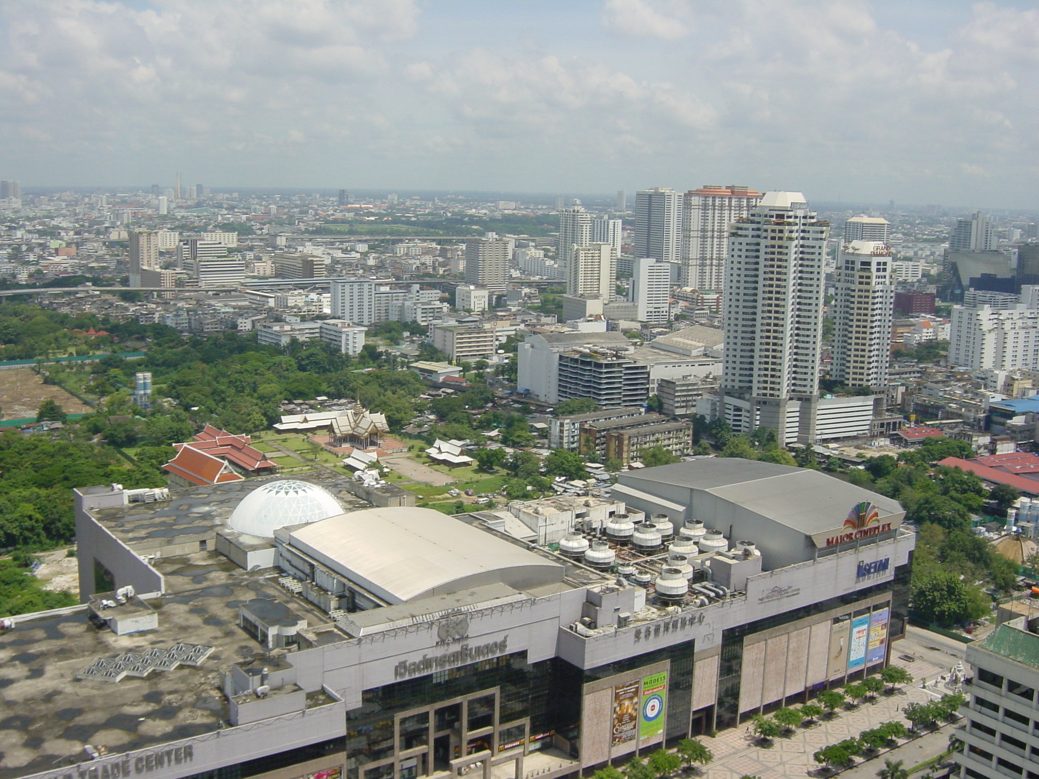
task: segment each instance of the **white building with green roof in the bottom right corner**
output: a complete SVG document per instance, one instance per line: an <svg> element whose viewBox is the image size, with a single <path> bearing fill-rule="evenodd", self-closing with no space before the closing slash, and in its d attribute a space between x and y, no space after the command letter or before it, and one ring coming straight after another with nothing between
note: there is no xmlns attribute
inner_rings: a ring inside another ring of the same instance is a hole
<svg viewBox="0 0 1039 779"><path fill-rule="evenodd" d="M1017 615L964 650L974 678L959 711L965 726L956 731L963 742L956 776L963 779L1039 776L1032 771L1039 753L1039 618Z"/></svg>

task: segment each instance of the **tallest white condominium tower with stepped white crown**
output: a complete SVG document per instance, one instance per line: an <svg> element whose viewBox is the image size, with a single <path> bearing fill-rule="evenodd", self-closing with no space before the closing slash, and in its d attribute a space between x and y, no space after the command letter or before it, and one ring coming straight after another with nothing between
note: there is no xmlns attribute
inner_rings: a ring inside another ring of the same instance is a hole
<svg viewBox="0 0 1039 779"><path fill-rule="evenodd" d="M737 432L769 428L780 446L815 438L828 235L800 192L766 192L732 225L719 411Z"/></svg>

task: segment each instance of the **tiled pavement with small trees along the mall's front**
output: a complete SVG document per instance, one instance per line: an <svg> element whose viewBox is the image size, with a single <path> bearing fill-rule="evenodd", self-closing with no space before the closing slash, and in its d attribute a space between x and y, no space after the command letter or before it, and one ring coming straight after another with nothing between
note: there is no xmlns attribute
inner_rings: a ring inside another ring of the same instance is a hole
<svg viewBox="0 0 1039 779"><path fill-rule="evenodd" d="M760 746L747 724L723 730L714 738L702 736L700 741L714 753L715 759L699 775L707 779L739 779L742 776L803 779L805 776L828 776L818 771L821 767L811 757L817 750L891 720L902 720L909 727L909 722L901 714L905 704L934 700L941 693L951 692L940 684L933 689L921 689L923 679L934 679L939 674L947 673L948 668L939 668L921 660L909 664L895 659L893 665L900 665L908 670L915 681L893 696L878 696L873 703L863 703L853 709L838 709L832 719L824 718L810 727L797 728L793 733L776 738L770 747ZM856 763L861 762L860 758L856 760ZM874 762L878 769L883 765L882 759L874 758Z"/></svg>

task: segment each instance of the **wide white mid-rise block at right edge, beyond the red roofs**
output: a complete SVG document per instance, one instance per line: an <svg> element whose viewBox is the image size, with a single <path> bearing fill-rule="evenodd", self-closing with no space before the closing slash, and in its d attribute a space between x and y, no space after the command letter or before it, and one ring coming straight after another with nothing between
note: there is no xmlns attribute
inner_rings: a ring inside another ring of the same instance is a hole
<svg viewBox="0 0 1039 779"><path fill-rule="evenodd" d="M1039 287L1006 308L953 306L949 364L970 370L1039 369Z"/></svg>

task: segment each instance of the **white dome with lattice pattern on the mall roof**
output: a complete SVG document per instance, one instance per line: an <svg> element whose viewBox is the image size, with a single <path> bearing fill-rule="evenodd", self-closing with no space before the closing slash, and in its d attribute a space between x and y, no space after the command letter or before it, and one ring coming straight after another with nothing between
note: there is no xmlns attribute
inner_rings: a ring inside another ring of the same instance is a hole
<svg viewBox="0 0 1039 779"><path fill-rule="evenodd" d="M317 484L278 479L257 487L235 507L228 522L239 533L273 538L287 525L305 525L343 513L332 495Z"/></svg>

